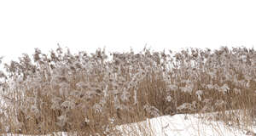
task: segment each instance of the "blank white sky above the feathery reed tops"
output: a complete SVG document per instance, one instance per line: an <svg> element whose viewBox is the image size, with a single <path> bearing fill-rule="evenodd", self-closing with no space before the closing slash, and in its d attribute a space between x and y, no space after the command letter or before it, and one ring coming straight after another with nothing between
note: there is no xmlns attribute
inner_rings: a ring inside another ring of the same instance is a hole
<svg viewBox="0 0 256 136"><path fill-rule="evenodd" d="M219 48L256 43L254 0L1 0L0 56L44 53ZM255 47L255 46L254 46Z"/></svg>

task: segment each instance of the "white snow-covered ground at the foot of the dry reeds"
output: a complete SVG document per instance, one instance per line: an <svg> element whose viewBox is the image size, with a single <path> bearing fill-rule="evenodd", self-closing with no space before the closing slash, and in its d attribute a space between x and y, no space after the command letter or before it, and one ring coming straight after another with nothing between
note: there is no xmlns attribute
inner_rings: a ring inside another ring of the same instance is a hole
<svg viewBox="0 0 256 136"><path fill-rule="evenodd" d="M212 115L212 113L208 114ZM256 135L256 127L238 128L228 127L224 122L207 121L201 116L194 114L184 115L178 114L174 116L159 116L147 119L143 122L125 124L118 126L122 130L124 136L253 136ZM12 134L8 134L11 136ZM13 134L14 135L14 134ZM13 136L12 135L12 136ZM72 134L55 133L59 136L67 136ZM15 136L22 136L15 134ZM46 135L45 135L46 136Z"/></svg>

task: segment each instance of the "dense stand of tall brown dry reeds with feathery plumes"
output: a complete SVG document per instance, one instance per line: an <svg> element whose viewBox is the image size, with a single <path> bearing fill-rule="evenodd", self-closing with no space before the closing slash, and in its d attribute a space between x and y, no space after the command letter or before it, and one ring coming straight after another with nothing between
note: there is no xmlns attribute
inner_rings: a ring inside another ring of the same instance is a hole
<svg viewBox="0 0 256 136"><path fill-rule="evenodd" d="M255 119L253 48L110 55L36 48L19 59L0 72L1 133L118 135L116 125L148 117L230 110L246 111L247 124Z"/></svg>

